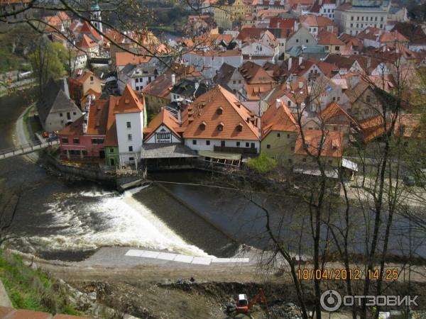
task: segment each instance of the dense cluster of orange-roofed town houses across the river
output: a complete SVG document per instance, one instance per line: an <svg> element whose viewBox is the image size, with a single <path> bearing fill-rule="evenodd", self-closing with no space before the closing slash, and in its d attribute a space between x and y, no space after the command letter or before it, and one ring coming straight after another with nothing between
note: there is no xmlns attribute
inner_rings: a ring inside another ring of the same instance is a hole
<svg viewBox="0 0 426 319"><path fill-rule="evenodd" d="M307 149L320 148L330 169L356 170L345 155L384 133L376 89L409 82L425 99L425 32L391 1L204 1L187 19L192 36L165 43L102 26L97 1L91 10L92 23L44 17L51 40L76 51L71 76L50 82L37 106L68 161L239 169L265 153L308 172ZM116 75L99 78L102 60ZM410 127L404 138L415 142L423 129L413 104L398 129Z"/></svg>

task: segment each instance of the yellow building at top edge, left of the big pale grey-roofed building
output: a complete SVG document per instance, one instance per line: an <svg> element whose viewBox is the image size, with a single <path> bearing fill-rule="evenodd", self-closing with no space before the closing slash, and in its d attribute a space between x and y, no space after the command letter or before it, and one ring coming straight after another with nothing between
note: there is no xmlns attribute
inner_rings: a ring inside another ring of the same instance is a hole
<svg viewBox="0 0 426 319"><path fill-rule="evenodd" d="M227 0L226 4L214 9L214 22L219 28L231 29L246 16L243 0Z"/></svg>

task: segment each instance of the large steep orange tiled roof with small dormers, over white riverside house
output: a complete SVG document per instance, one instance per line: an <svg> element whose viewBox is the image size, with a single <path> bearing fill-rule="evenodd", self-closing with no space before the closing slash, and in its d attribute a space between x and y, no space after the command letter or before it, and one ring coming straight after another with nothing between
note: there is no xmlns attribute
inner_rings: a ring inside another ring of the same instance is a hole
<svg viewBox="0 0 426 319"><path fill-rule="evenodd" d="M219 114L218 109L222 108ZM191 114L192 113L192 116ZM217 85L194 101L188 108L188 126L184 138L221 140L258 140L256 117L234 94ZM205 122L202 130L200 124ZM222 125L222 130L218 126ZM239 130L241 125L241 130Z"/></svg>

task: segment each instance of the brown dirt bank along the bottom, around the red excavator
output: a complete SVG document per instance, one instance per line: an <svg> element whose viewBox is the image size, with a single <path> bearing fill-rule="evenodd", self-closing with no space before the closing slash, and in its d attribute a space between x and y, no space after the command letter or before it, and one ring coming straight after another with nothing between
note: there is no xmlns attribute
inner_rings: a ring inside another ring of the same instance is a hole
<svg viewBox="0 0 426 319"><path fill-rule="evenodd" d="M217 265L158 267L137 265L121 267L79 266L66 263L46 262L38 259L41 267L54 276L84 292L95 291L97 301L138 318L229 318L224 313L226 304L239 293L253 298L263 288L268 298L269 318L290 318L286 303L296 303L297 298L288 272L271 274L258 267ZM420 308L425 308L425 267L418 267L410 286L403 279L388 286L386 293L419 295ZM194 284L176 284L195 278ZM361 285L361 283L360 283ZM313 285L305 285L307 300L314 301ZM356 286L356 285L354 285ZM324 289L344 293L343 281L324 282ZM256 306L252 318L268 318L266 309ZM244 315L236 318L247 318ZM350 318L344 310L324 318Z"/></svg>

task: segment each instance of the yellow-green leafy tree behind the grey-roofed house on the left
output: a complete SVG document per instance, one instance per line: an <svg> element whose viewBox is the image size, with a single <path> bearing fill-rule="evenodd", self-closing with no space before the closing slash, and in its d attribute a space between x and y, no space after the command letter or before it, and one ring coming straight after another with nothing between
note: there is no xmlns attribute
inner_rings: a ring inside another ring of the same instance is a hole
<svg viewBox="0 0 426 319"><path fill-rule="evenodd" d="M50 78L58 79L65 74L65 67L61 60L65 59L66 54L65 48L60 43L52 43L45 38L40 38L29 57L33 72L38 79L40 94Z"/></svg>

